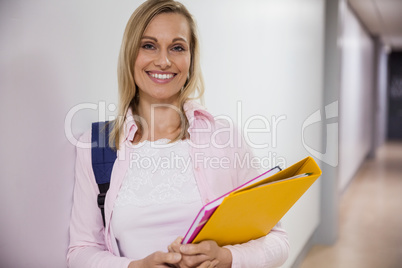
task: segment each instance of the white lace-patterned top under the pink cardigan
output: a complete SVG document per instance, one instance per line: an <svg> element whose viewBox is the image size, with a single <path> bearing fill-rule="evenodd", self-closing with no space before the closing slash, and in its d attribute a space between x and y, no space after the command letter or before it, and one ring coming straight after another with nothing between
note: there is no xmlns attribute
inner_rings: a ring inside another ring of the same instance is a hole
<svg viewBox="0 0 402 268"><path fill-rule="evenodd" d="M184 236L202 206L187 141L135 145L114 204L112 231L122 256L167 251Z"/></svg>

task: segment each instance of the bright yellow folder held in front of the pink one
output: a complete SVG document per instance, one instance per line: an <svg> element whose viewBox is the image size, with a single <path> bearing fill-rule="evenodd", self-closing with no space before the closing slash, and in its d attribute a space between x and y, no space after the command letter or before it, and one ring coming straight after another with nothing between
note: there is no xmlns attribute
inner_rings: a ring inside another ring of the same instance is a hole
<svg viewBox="0 0 402 268"><path fill-rule="evenodd" d="M308 173L308 175L302 175ZM297 175L302 177L289 179ZM192 243L215 240L219 246L267 235L321 175L313 158L228 195Z"/></svg>

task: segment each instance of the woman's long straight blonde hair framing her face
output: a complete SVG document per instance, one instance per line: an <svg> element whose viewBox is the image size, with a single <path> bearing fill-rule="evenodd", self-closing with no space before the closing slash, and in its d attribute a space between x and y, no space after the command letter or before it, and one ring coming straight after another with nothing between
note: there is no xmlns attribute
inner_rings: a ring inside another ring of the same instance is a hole
<svg viewBox="0 0 402 268"><path fill-rule="evenodd" d="M187 8L173 0L148 0L141 4L131 15L123 35L118 59L118 87L119 105L118 117L115 120L111 131L110 147L119 149L120 135L124 129L124 121L128 109L131 107L134 114L137 114L139 101L138 88L134 81L134 64L140 49L141 38L151 20L161 13L177 13L183 15L190 28L190 54L191 63L189 76L179 96L179 108L182 113L182 124L180 134L173 140L182 139L186 136L188 120L184 115L183 105L189 99L202 99L204 94L204 81L200 65L200 47L196 23ZM196 92L198 95L195 96ZM142 125L136 120L141 133ZM140 134L141 135L141 134Z"/></svg>

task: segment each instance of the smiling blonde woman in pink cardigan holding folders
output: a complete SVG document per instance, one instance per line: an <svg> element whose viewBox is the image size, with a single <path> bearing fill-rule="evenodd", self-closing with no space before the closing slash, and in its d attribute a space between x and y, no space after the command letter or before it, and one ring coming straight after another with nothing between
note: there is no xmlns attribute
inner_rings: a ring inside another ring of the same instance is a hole
<svg viewBox="0 0 402 268"><path fill-rule="evenodd" d="M279 226L241 245L180 244L202 205L258 175L234 164L250 154L237 131L223 131L228 124L190 100L197 92L202 97L203 81L195 22L182 4L150 0L137 8L124 33L118 82L120 116L110 139L118 158L105 200L105 227L90 149L77 148L69 266L281 265L289 246ZM90 138L87 132L80 141ZM208 163L212 157L227 159L225 167ZM176 162L150 164L166 159Z"/></svg>

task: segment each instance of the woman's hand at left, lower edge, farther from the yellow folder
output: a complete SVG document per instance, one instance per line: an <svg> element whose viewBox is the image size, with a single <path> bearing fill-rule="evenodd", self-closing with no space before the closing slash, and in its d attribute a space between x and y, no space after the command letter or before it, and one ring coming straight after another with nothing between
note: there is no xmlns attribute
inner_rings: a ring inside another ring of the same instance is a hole
<svg viewBox="0 0 402 268"><path fill-rule="evenodd" d="M177 264L180 260L181 255L179 253L165 253L157 251L142 260L132 261L128 268L175 267L175 264Z"/></svg>

